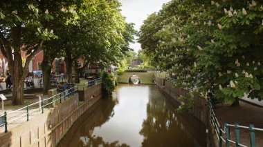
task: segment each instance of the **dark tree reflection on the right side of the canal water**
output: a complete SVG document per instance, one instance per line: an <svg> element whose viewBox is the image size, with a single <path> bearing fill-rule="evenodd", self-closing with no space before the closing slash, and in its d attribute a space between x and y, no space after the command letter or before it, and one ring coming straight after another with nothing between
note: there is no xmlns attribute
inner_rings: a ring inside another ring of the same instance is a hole
<svg viewBox="0 0 263 147"><path fill-rule="evenodd" d="M197 139L188 132L188 124L182 124L167 107L169 101L156 90L152 90L147 104L147 118L143 121L140 135L144 136L142 146L200 146ZM174 109L174 107L172 108ZM192 128L192 127L190 127Z"/></svg>

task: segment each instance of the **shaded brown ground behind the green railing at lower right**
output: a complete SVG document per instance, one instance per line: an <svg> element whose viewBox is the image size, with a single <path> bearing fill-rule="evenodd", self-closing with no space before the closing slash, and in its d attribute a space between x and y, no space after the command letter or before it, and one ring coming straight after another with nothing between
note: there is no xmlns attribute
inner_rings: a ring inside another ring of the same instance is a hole
<svg viewBox="0 0 263 147"><path fill-rule="evenodd" d="M229 124L238 123L241 126L253 124L256 128L263 128L263 108L239 101L240 106L231 107L231 104L225 104L224 107L217 105L215 113L221 126L225 122ZM241 143L250 146L248 129L240 129ZM235 141L235 130L230 127L230 139ZM255 132L256 146L263 146L263 131ZM232 143L230 143L232 144ZM235 145L235 144L232 144Z"/></svg>

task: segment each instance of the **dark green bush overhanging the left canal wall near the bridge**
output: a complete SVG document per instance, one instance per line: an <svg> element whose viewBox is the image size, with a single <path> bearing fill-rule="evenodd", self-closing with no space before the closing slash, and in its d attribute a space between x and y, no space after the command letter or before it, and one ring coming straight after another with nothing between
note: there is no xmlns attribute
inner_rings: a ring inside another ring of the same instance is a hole
<svg viewBox="0 0 263 147"><path fill-rule="evenodd" d="M102 72L102 93L103 97L111 97L115 88L114 75L107 72Z"/></svg>

